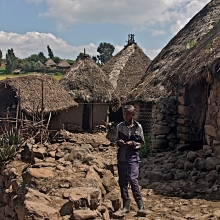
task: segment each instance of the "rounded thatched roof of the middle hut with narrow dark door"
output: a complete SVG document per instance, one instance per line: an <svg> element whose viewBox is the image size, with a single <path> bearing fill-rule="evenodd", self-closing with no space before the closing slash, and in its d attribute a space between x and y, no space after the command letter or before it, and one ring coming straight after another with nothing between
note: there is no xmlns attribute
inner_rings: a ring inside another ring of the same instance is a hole
<svg viewBox="0 0 220 220"><path fill-rule="evenodd" d="M88 56L77 60L60 80L60 84L75 99L112 102L115 98L108 77Z"/></svg>

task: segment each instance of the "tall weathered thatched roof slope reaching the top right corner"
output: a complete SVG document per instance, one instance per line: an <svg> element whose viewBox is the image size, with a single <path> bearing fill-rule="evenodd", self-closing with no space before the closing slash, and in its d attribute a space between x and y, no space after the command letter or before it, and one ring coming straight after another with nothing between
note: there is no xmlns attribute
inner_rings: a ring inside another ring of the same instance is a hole
<svg viewBox="0 0 220 220"><path fill-rule="evenodd" d="M172 73L171 66L177 60L181 62L186 51L204 38L219 21L219 14L220 1L212 0L194 16L151 62L128 100L156 101L169 95L170 91L165 89L163 82Z"/></svg>

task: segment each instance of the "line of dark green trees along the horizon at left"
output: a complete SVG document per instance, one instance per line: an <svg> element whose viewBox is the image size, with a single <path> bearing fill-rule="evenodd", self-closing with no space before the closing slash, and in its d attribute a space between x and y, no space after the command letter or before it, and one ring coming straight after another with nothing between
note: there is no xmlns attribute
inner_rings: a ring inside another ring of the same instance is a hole
<svg viewBox="0 0 220 220"><path fill-rule="evenodd" d="M100 43L97 52L99 55L92 56L91 58L100 66L108 62L109 59L113 56L115 47L110 43ZM12 73L15 69L22 69L24 72L34 72L40 69L40 62L42 64L46 63L49 59L52 59L56 64L61 61L61 58L54 56L52 49L47 45L48 58L44 55L43 52L38 54L32 54L31 56L25 59L19 59L15 56L13 48L8 49L6 53L6 73ZM84 53L80 53L76 60L82 58ZM0 50L0 65L2 61L2 51ZM40 61L40 62L39 62ZM70 64L73 64L74 60L67 60Z"/></svg>

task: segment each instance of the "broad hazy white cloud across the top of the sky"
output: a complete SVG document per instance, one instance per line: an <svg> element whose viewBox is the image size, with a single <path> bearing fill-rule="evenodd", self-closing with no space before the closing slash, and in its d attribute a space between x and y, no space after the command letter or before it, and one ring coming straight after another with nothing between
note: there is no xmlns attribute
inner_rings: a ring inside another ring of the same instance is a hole
<svg viewBox="0 0 220 220"><path fill-rule="evenodd" d="M59 28L80 23L120 23L134 29L172 22L179 31L210 0L26 0L45 1L48 9L39 14L57 21Z"/></svg>

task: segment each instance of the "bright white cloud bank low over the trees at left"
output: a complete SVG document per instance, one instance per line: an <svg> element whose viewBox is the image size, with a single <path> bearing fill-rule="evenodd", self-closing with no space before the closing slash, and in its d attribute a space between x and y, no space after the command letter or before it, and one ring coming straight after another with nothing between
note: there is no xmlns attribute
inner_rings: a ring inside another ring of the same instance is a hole
<svg viewBox="0 0 220 220"><path fill-rule="evenodd" d="M47 45L50 46L55 56L66 59L76 59L80 52L86 49L86 53L96 55L97 46L93 43L81 46L71 46L61 38L50 33L27 32L26 34L7 33L0 31L0 48L3 56L8 49L13 48L19 58L25 58L31 54L43 52L47 57Z"/></svg>

